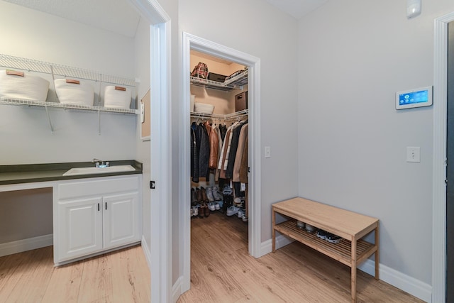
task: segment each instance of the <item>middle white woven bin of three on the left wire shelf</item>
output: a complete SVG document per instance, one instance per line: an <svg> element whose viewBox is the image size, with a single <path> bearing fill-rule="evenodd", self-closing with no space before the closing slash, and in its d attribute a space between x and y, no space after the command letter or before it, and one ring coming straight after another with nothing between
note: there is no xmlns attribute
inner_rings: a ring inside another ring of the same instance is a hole
<svg viewBox="0 0 454 303"><path fill-rule="evenodd" d="M73 79L55 79L54 83L60 103L93 105L94 89L91 84Z"/></svg>

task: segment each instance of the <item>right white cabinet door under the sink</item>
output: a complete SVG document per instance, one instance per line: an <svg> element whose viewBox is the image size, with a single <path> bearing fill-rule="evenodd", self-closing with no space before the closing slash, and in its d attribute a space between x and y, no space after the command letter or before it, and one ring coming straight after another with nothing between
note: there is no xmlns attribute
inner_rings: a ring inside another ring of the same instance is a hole
<svg viewBox="0 0 454 303"><path fill-rule="evenodd" d="M140 241L138 192L103 198L104 248Z"/></svg>

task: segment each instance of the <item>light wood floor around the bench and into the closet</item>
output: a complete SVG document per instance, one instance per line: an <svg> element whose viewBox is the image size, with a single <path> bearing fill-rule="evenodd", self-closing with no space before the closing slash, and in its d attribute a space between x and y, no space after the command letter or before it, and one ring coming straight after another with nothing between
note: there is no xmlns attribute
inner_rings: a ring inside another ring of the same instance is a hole
<svg viewBox="0 0 454 303"><path fill-rule="evenodd" d="M248 255L248 227L221 213L192 219L186 302L351 302L350 268L301 243ZM358 270L358 302L422 302Z"/></svg>

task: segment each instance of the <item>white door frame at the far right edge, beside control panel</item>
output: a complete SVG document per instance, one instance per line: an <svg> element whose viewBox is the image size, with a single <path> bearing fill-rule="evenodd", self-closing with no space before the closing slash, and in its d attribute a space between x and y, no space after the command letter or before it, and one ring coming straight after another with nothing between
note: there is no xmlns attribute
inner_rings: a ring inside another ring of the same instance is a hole
<svg viewBox="0 0 454 303"><path fill-rule="evenodd" d="M446 295L446 119L448 89L448 23L454 12L434 21L433 72L433 207L432 302Z"/></svg>

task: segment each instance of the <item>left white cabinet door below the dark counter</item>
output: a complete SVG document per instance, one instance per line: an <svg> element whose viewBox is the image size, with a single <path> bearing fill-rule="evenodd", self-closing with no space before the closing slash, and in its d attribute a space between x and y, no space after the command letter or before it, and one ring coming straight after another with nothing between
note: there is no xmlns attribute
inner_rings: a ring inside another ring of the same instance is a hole
<svg viewBox="0 0 454 303"><path fill-rule="evenodd" d="M102 249L102 198L59 202L59 259L68 260Z"/></svg>

